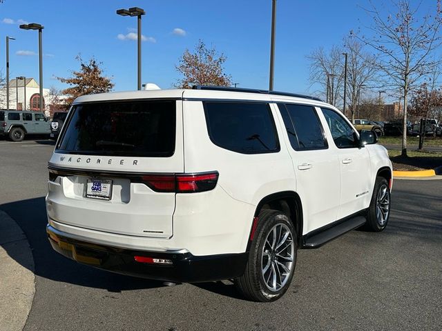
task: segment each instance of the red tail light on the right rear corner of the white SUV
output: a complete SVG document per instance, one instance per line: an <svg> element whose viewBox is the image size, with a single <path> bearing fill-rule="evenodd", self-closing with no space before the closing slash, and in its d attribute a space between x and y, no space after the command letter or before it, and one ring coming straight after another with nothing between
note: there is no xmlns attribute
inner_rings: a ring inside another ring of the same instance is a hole
<svg viewBox="0 0 442 331"><path fill-rule="evenodd" d="M218 182L218 172L200 174L149 174L142 183L155 192L193 193L213 190Z"/></svg>

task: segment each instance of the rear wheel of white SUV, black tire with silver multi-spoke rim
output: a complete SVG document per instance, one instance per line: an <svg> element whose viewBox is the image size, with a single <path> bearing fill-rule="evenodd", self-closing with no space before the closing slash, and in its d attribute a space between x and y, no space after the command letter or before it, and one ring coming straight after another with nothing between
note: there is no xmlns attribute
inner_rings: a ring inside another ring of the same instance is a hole
<svg viewBox="0 0 442 331"><path fill-rule="evenodd" d="M280 229L280 237L275 235L273 229L276 232ZM286 234L285 240L273 240L271 244L267 240L273 235L275 235L273 238L283 239ZM275 241L276 244L274 244ZM279 251L278 243L280 243ZM236 287L244 297L252 301L268 302L279 299L287 291L293 279L297 249L296 232L289 217L278 210L262 210L253 235L246 270L241 277L236 279ZM264 263L266 265L263 265ZM280 272L280 270L289 270L289 272ZM265 277L268 277L267 283ZM269 283L274 284L273 290L267 285Z"/></svg>

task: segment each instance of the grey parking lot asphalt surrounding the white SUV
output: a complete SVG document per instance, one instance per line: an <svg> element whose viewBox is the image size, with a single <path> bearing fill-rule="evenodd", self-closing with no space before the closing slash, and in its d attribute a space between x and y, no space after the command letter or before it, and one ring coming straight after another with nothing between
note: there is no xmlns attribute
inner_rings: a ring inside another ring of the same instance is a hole
<svg viewBox="0 0 442 331"><path fill-rule="evenodd" d="M23 330L442 330L441 181L394 181L384 232L356 230L301 250L285 297L253 303L229 281L168 287L53 252L44 207L52 148L0 141L0 209L35 261Z"/></svg>

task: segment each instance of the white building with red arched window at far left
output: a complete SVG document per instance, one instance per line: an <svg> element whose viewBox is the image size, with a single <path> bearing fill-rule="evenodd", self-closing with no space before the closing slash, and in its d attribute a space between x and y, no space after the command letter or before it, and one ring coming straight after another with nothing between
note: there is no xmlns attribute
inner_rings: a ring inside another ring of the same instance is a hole
<svg viewBox="0 0 442 331"><path fill-rule="evenodd" d="M9 109L11 110L40 110L39 84L33 78L17 77L9 81ZM43 89L43 105L45 112L49 110L46 101L49 89ZM6 109L6 86L0 89L0 109ZM48 114L47 114L48 116Z"/></svg>

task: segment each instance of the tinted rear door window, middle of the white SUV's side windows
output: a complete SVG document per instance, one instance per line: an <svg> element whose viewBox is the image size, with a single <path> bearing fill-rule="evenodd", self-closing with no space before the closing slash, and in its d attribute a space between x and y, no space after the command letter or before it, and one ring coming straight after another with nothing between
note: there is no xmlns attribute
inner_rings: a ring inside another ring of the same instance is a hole
<svg viewBox="0 0 442 331"><path fill-rule="evenodd" d="M291 147L294 150L328 148L318 114L312 106L278 105L284 120Z"/></svg>

